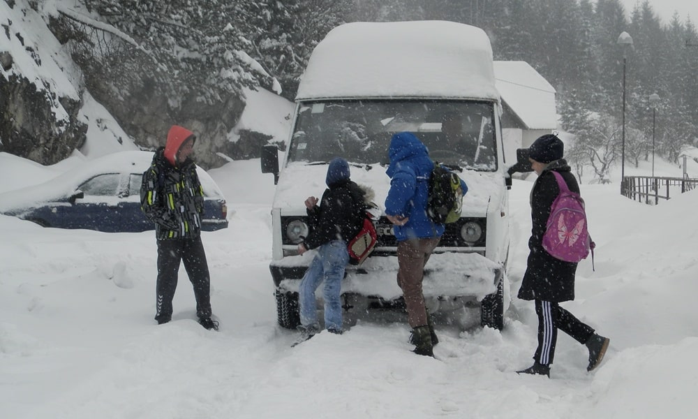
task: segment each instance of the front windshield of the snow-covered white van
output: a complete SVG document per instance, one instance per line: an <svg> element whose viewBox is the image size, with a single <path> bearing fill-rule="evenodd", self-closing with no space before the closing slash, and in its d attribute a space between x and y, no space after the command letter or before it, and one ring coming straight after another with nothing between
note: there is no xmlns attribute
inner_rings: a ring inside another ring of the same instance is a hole
<svg viewBox="0 0 698 419"><path fill-rule="evenodd" d="M471 170L497 170L494 109L477 101L314 101L301 103L288 161L389 163L394 133L410 131L431 159Z"/></svg>

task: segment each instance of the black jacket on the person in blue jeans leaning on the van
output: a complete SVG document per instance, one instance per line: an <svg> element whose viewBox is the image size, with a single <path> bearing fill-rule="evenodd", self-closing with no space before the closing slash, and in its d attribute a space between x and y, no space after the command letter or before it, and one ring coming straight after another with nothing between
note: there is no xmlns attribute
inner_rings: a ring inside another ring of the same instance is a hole
<svg viewBox="0 0 698 419"><path fill-rule="evenodd" d="M364 224L366 191L349 179L329 185L320 206L307 209L311 232L304 240L306 249L315 249L332 240L348 242Z"/></svg>

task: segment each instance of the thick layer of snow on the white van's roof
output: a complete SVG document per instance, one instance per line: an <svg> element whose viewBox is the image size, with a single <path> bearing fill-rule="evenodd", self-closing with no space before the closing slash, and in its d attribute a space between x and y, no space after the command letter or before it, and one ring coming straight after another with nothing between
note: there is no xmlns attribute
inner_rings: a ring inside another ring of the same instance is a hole
<svg viewBox="0 0 698 419"><path fill-rule="evenodd" d="M296 100L357 97L498 100L489 38L445 21L336 27L313 50Z"/></svg>

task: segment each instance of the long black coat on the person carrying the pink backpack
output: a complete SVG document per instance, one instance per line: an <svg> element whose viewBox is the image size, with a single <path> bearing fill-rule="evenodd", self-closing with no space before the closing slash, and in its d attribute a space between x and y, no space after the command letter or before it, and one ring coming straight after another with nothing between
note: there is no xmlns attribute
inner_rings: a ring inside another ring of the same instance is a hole
<svg viewBox="0 0 698 419"><path fill-rule="evenodd" d="M565 179L570 191L579 193L577 179L567 166L567 161L560 159L550 163L535 180L530 193L530 208L533 228L528 239L528 264L523 274L519 298L521 300L544 300L563 302L574 300L574 274L577 263L564 262L550 256L543 249L543 235L550 216L550 207L560 193L555 176L550 172L555 170Z"/></svg>

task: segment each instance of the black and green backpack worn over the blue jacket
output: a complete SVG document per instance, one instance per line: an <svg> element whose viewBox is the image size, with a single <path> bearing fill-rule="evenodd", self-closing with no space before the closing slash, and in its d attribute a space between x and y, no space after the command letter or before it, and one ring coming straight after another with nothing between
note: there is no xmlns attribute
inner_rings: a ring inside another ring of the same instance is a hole
<svg viewBox="0 0 698 419"><path fill-rule="evenodd" d="M429 200L426 213L431 221L445 224L458 221L461 218L462 209L461 178L435 161L429 178Z"/></svg>

